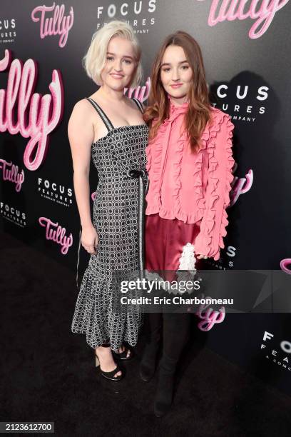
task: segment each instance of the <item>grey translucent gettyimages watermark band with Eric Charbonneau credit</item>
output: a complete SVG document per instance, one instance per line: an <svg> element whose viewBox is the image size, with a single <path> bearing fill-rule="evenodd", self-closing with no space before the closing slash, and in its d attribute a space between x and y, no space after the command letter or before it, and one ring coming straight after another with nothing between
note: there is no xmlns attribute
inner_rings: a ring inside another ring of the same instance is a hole
<svg viewBox="0 0 291 437"><path fill-rule="evenodd" d="M291 313L291 275L281 269L114 271L112 281L117 312Z"/></svg>

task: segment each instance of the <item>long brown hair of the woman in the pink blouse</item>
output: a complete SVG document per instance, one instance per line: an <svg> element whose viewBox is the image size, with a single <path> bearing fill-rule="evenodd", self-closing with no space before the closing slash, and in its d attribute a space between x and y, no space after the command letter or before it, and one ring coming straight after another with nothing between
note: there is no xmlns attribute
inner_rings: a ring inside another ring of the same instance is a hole
<svg viewBox="0 0 291 437"><path fill-rule="evenodd" d="M205 78L205 69L200 46L193 36L187 32L176 31L167 36L153 61L151 71L151 88L148 97L148 107L144 114L146 123L150 126L149 138L153 139L163 121L169 116L170 102L160 80L160 65L165 49L168 46L180 46L193 71L193 86L189 91L189 106L185 114L185 129L188 132L192 151L199 149L200 136L210 120L210 101ZM153 124L153 119L157 119Z"/></svg>

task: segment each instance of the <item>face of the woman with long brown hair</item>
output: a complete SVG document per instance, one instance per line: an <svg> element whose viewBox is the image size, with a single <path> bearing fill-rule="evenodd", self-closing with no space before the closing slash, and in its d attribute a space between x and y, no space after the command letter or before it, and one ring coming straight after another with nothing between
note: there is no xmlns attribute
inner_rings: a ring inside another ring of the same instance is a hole
<svg viewBox="0 0 291 437"><path fill-rule="evenodd" d="M160 80L165 91L174 99L185 100L188 96L193 84L193 70L182 47L172 45L165 49L160 66Z"/></svg>

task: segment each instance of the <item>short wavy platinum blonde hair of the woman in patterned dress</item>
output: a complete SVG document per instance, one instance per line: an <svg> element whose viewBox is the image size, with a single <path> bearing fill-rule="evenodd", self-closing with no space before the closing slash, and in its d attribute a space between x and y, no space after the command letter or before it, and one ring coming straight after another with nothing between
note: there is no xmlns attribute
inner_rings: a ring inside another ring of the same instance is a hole
<svg viewBox="0 0 291 437"><path fill-rule="evenodd" d="M104 24L92 36L91 44L86 55L83 57L83 66L88 76L97 84L102 85L101 71L106 64L106 53L109 41L113 36L121 36L133 44L133 50L136 54L136 72L133 74L131 84L128 86L136 87L141 83L141 46L138 43L133 28L126 21L113 20Z"/></svg>

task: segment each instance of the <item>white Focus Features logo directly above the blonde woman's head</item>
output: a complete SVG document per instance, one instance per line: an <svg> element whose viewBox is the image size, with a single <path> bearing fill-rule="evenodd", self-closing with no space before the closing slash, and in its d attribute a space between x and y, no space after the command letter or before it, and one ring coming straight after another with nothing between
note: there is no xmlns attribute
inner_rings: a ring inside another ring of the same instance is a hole
<svg viewBox="0 0 291 437"><path fill-rule="evenodd" d="M103 21L97 24L97 29L102 24L106 24L106 20L121 18L133 26L133 31L136 34L148 34L149 26L155 24L153 13L156 9L156 3L157 0L138 0L98 6L97 19Z"/></svg>

